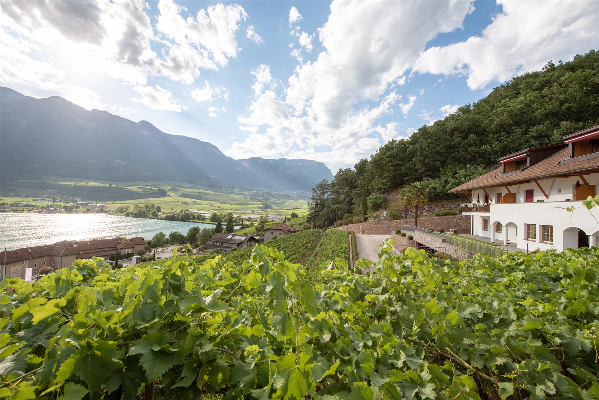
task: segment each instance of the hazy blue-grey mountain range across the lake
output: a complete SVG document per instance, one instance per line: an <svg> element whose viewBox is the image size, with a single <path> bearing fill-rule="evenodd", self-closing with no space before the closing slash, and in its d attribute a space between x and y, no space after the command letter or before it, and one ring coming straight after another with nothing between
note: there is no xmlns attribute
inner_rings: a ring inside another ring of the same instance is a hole
<svg viewBox="0 0 599 400"><path fill-rule="evenodd" d="M36 99L0 87L0 181L43 175L124 181L186 181L309 190L333 175L313 160L234 160L218 147L162 132L52 96Z"/></svg>

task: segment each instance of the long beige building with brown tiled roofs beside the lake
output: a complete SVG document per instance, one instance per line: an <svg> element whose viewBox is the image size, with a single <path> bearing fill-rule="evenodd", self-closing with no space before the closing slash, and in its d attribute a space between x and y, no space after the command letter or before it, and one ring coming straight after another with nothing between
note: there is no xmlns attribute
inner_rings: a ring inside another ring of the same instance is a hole
<svg viewBox="0 0 599 400"><path fill-rule="evenodd" d="M48 246L23 247L0 253L0 280L4 277L31 278L43 266L53 269L71 266L75 259L135 254L146 247L144 238L129 240L99 239L89 241L63 240Z"/></svg>

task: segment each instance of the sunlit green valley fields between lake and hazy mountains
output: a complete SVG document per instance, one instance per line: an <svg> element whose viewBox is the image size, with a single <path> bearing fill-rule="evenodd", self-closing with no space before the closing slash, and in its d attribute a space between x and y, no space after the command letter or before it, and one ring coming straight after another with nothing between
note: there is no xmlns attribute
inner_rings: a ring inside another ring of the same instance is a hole
<svg viewBox="0 0 599 400"><path fill-rule="evenodd" d="M158 194L159 187L168 191L167 196ZM7 193L15 195L8 196ZM88 180L75 184L72 178L44 177L8 181L0 187L0 202L45 205L52 202L54 197L57 201L60 198L73 198L104 203L109 210L120 205L132 208L135 204L156 204L161 206L162 211L192 210L197 213L233 213L235 216L290 216L292 212L299 216L307 214L306 201L297 193L271 193L226 186L219 190L181 182L111 183ZM32 200L39 198L48 200Z"/></svg>

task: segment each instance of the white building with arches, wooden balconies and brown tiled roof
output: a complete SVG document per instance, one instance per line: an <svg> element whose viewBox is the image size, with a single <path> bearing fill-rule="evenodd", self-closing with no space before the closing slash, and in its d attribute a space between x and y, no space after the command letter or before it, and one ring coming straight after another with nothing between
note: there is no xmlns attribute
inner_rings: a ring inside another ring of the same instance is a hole
<svg viewBox="0 0 599 400"><path fill-rule="evenodd" d="M599 207L588 210L582 200L599 189L599 125L498 162L449 191L470 200L462 214L471 216L473 235L529 250L598 246Z"/></svg>

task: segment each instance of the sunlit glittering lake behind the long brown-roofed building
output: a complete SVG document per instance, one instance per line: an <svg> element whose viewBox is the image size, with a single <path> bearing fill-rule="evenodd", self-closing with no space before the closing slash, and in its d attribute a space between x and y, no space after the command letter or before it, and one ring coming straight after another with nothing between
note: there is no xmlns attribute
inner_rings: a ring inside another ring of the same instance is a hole
<svg viewBox="0 0 599 400"><path fill-rule="evenodd" d="M187 234L189 228L214 225L113 216L109 214L0 213L0 251L52 244L60 240L90 240L116 236L151 239L158 232Z"/></svg>

